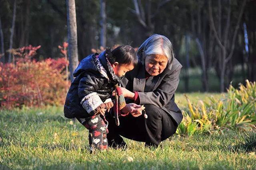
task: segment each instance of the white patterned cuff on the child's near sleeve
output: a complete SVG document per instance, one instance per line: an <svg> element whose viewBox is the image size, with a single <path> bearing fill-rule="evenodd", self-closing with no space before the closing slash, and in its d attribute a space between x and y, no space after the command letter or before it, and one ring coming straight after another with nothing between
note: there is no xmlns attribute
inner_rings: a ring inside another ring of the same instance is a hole
<svg viewBox="0 0 256 170"><path fill-rule="evenodd" d="M100 97L97 95L96 92L94 92L85 96L80 104L87 111L87 113L90 113L91 111L94 111L102 103L103 102L101 101Z"/></svg>

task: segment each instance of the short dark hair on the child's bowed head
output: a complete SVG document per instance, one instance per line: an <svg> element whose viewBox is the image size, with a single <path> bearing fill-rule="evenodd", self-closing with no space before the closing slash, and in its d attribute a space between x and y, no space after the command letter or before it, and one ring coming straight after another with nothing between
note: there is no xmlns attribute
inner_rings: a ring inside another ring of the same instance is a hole
<svg viewBox="0 0 256 170"><path fill-rule="evenodd" d="M108 48L106 53L111 64L118 62L119 64L133 64L136 66L138 63L136 51L130 45L121 45L113 50Z"/></svg>

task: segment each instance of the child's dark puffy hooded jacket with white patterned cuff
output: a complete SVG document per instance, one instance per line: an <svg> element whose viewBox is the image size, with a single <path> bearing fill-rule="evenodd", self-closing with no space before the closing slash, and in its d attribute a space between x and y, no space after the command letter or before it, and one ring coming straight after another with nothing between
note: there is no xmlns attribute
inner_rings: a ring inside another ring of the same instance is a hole
<svg viewBox="0 0 256 170"><path fill-rule="evenodd" d="M106 60L106 51L84 58L74 71L76 77L68 90L64 105L67 118L90 117L91 111L110 101L119 78Z"/></svg>

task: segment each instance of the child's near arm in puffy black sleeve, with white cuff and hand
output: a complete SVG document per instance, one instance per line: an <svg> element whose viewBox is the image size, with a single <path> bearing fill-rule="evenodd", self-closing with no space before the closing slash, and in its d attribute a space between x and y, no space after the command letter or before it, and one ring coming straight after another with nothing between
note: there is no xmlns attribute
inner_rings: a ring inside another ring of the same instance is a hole
<svg viewBox="0 0 256 170"><path fill-rule="evenodd" d="M105 104L96 93L102 87L103 83L104 79L93 74L84 75L79 82L78 97L82 107L90 115L101 113L105 108Z"/></svg>

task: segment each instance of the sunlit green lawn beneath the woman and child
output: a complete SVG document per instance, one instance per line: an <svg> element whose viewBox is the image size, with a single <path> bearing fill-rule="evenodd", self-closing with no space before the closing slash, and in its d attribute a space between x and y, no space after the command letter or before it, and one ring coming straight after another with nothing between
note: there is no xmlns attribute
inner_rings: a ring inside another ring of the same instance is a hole
<svg viewBox="0 0 256 170"><path fill-rule="evenodd" d="M196 101L206 94L188 96ZM182 94L176 101L184 107ZM125 139L127 150L94 154L87 136L86 128L63 117L62 107L0 111L0 169L256 169L255 150L246 150L239 132L175 135L156 149Z"/></svg>

